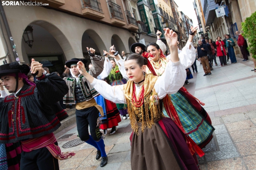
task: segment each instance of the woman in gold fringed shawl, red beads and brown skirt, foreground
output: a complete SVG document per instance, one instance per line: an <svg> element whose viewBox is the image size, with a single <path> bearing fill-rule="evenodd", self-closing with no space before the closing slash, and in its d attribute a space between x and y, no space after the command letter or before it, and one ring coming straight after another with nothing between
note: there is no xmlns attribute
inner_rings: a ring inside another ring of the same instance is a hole
<svg viewBox="0 0 256 170"><path fill-rule="evenodd" d="M166 30L171 61L162 76L146 74L147 59L132 54L125 60L129 80L125 85L110 86L87 74L82 62L79 71L106 99L127 103L134 131L131 148L132 170L195 170L198 169L190 154L185 135L175 122L163 115L163 103L167 94L174 94L184 84L186 71L177 53L177 34ZM173 45L174 44L174 45ZM164 83L163 83L164 82ZM104 89L102 88L104 86Z"/></svg>

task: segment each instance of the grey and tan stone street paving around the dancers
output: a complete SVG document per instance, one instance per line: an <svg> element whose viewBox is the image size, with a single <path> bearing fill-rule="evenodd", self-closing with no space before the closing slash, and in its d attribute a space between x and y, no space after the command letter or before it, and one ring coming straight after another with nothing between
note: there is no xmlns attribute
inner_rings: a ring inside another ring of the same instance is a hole
<svg viewBox="0 0 256 170"><path fill-rule="evenodd" d="M218 60L218 59L217 59ZM251 71L252 62L241 62L227 66L213 66L212 75L203 76L198 62L198 74L185 85L188 91L205 102L215 127L215 151L205 152L199 158L202 170L256 170L256 74ZM191 69L192 71L192 69ZM250 81L249 81L250 80ZM68 141L77 139L76 124L58 132L55 136L63 152L74 151L76 155L59 161L61 170L130 170L131 134L129 120L119 123L118 131L105 136L108 164L100 167L95 160L95 148L83 143L62 148Z"/></svg>

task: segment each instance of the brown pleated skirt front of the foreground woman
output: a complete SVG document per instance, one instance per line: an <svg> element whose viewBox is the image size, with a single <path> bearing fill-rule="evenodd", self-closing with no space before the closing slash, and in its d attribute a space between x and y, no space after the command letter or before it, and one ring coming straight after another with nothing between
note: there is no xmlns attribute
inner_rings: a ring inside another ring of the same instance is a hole
<svg viewBox="0 0 256 170"><path fill-rule="evenodd" d="M159 124L145 128L139 135L133 134L131 148L132 170L182 170L173 148Z"/></svg>

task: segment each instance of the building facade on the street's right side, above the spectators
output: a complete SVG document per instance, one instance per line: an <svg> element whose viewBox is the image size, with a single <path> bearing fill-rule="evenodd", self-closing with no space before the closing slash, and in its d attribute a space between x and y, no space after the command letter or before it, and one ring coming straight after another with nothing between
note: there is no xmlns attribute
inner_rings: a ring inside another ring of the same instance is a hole
<svg viewBox="0 0 256 170"><path fill-rule="evenodd" d="M203 17L199 22L204 23L202 26L205 27L202 38L216 40L221 36L224 39L224 34L229 34L236 44L234 47L236 57L242 58L241 50L237 45L236 31L241 32L241 23L256 11L256 0L195 0L194 8L199 4L203 6ZM215 9L220 7L226 8L226 15L217 17ZM251 57L249 59L252 60Z"/></svg>

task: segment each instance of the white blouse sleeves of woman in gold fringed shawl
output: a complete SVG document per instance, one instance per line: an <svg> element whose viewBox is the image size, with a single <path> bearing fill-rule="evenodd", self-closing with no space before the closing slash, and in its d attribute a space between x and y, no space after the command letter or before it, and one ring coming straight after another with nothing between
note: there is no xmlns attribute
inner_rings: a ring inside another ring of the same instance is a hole
<svg viewBox="0 0 256 170"><path fill-rule="evenodd" d="M160 99L163 99L167 94L176 93L186 80L185 67L178 62L170 61L166 65L165 72L158 77L154 87ZM91 85L105 99L114 103L125 104L124 85L110 86L103 80L94 79ZM136 90L137 91L137 90Z"/></svg>

